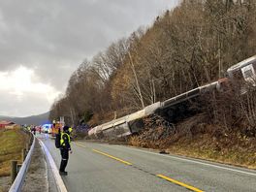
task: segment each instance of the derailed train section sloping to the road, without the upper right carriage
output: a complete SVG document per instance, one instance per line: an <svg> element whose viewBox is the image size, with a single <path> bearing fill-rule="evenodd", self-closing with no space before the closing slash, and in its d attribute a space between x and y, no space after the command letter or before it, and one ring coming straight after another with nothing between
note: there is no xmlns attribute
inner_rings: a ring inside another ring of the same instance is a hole
<svg viewBox="0 0 256 192"><path fill-rule="evenodd" d="M204 86L200 86L196 89L182 93L164 102L157 102L144 108L139 112L134 112L126 116L114 119L110 122L98 125L92 128L88 135L91 138L121 138L140 132L144 129L145 116L152 113L156 113L163 116L168 121L173 122L177 116L180 116L182 112L186 112L188 102L200 95L218 89L219 84L224 81L215 81Z"/></svg>

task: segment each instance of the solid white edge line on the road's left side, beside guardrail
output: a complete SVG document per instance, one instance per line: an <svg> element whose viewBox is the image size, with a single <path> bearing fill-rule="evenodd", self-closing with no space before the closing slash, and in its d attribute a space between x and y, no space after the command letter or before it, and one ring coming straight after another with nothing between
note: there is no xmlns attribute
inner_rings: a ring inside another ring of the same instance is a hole
<svg viewBox="0 0 256 192"><path fill-rule="evenodd" d="M55 181L56 181L56 185L58 187L58 190L60 192L68 192L61 176L59 176L59 172L58 172L58 169L57 169L57 166L56 164L54 163L54 160L53 158L51 157L49 151L48 151L48 147L41 141L39 140L39 143L40 145L43 147L44 151L45 151L45 154L48 158L48 162L49 162L49 165L50 165L50 168L52 170L52 173L53 173L53 176L55 178Z"/></svg>

